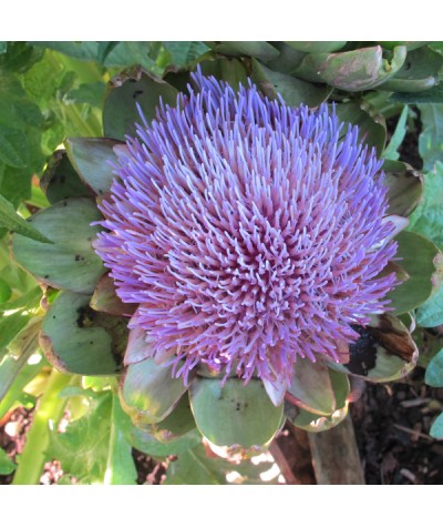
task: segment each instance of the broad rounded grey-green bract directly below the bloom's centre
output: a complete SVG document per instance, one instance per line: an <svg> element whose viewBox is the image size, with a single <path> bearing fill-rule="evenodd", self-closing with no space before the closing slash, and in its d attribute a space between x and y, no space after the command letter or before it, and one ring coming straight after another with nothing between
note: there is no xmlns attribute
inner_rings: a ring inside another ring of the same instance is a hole
<svg viewBox="0 0 443 527"><path fill-rule="evenodd" d="M202 434L218 446L265 445L279 428L282 405L271 403L260 381L246 386L239 378L196 378L189 388L190 408Z"/></svg>

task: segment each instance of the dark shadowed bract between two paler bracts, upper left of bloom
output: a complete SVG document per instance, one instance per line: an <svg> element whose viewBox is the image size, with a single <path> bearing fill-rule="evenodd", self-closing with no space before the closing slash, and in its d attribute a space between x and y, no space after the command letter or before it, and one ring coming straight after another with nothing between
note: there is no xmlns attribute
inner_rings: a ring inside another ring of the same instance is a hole
<svg viewBox="0 0 443 527"><path fill-rule="evenodd" d="M72 166L64 150L56 150L48 161L40 186L50 203L69 197L93 197Z"/></svg>

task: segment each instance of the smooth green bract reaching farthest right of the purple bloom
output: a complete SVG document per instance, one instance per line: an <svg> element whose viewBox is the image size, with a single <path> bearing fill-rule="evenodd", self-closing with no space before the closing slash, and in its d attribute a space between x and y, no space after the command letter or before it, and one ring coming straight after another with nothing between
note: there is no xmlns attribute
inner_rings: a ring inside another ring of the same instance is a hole
<svg viewBox="0 0 443 527"><path fill-rule="evenodd" d="M400 267L406 272L408 280L398 285L388 298L400 315L415 310L426 302L437 287L439 249L424 236L403 231L395 241L399 244L396 259Z"/></svg>

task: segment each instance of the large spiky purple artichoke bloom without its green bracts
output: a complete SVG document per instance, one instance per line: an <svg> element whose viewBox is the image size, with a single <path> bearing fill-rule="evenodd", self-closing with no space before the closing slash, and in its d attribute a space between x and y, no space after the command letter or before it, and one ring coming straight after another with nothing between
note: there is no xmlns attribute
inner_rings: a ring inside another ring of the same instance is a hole
<svg viewBox="0 0 443 527"><path fill-rule="evenodd" d="M150 354L290 382L297 356L340 361L395 276L381 162L327 105L269 101L214 78L137 126L97 253L140 307Z"/></svg>

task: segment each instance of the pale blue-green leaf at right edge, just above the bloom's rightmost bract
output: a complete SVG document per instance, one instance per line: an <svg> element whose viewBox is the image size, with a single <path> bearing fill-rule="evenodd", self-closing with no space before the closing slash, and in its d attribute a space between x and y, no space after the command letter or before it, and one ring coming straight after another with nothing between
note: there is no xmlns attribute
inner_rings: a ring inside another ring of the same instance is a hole
<svg viewBox="0 0 443 527"><path fill-rule="evenodd" d="M443 143L442 143L443 144ZM443 250L443 163L424 175L424 196L410 217L409 229L423 234Z"/></svg>

